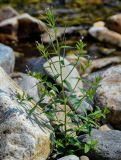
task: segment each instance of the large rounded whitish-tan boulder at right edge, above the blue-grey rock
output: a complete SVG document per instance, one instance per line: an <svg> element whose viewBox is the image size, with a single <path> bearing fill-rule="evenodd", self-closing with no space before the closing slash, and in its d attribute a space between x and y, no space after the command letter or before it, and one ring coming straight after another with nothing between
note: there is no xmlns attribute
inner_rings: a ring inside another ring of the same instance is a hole
<svg viewBox="0 0 121 160"><path fill-rule="evenodd" d="M106 70L95 95L96 105L110 110L108 121L121 127L121 65Z"/></svg>

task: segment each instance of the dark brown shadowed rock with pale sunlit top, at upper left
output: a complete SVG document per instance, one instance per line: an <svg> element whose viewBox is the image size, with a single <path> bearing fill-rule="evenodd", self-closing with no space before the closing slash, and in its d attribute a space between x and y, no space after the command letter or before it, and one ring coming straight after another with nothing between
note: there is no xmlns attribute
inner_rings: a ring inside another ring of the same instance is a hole
<svg viewBox="0 0 121 160"><path fill-rule="evenodd" d="M0 23L0 37L3 38L2 40L40 39L40 34L45 30L46 25L42 21L27 13L6 19Z"/></svg>

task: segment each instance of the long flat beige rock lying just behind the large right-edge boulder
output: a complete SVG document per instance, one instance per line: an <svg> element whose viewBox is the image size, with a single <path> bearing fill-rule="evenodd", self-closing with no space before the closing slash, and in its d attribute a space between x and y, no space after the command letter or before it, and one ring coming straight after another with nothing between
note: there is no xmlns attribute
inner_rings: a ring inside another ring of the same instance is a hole
<svg viewBox="0 0 121 160"><path fill-rule="evenodd" d="M95 70L99 70L99 69L107 67L109 65L118 64L118 63L121 63L121 57L120 56L94 59L94 60L91 61L91 65L86 70L86 72L91 73Z"/></svg>

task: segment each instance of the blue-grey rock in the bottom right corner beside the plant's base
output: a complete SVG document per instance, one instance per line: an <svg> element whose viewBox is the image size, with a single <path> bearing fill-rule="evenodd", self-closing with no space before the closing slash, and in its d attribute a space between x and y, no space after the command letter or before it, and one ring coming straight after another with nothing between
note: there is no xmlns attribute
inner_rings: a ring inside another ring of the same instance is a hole
<svg viewBox="0 0 121 160"><path fill-rule="evenodd" d="M88 141L89 137L80 136L82 141ZM101 132L92 131L92 140L97 140L94 150L88 154L94 160L120 160L121 159L121 131L110 130Z"/></svg>

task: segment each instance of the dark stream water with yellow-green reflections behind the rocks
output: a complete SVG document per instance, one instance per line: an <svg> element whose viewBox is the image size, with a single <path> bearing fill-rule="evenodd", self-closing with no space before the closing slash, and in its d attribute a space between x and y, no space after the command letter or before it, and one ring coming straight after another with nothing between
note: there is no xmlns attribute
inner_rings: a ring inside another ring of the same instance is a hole
<svg viewBox="0 0 121 160"><path fill-rule="evenodd" d="M87 51L91 45L110 48L108 44L102 44L92 39L88 34L88 28L96 21L105 21L107 17L121 12L120 0L0 0L0 7L12 6L19 13L29 13L32 16L46 22L45 11L52 8L57 19L58 26L82 26L76 34L67 36L67 44L74 44L81 37L87 44ZM11 44L12 48L17 52L16 70L22 69L24 60L31 57L38 57L38 53L33 42L19 42ZM73 53L73 51L68 51ZM98 53L91 53L92 58L101 57Z"/></svg>

